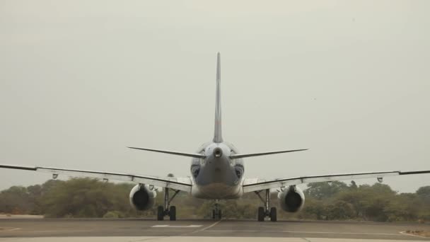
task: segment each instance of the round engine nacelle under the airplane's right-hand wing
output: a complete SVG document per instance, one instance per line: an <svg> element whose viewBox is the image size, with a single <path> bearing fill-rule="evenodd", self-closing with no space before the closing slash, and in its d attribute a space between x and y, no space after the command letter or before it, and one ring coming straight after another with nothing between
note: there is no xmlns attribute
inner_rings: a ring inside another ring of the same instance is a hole
<svg viewBox="0 0 430 242"><path fill-rule="evenodd" d="M302 190L295 185L284 188L278 193L281 208L286 212L298 212L305 204L305 195Z"/></svg>

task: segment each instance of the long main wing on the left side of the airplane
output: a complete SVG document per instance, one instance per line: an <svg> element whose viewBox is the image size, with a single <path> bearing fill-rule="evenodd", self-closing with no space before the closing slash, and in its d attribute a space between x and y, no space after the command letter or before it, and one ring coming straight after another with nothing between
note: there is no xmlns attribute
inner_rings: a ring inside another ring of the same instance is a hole
<svg viewBox="0 0 430 242"><path fill-rule="evenodd" d="M25 171L39 171L45 173L52 173L52 178L57 178L58 175L67 175L72 177L87 177L87 178L100 178L103 180L123 180L133 183L141 183L147 185L155 185L163 188L172 188L185 192L191 192L191 179L190 178L159 178L156 176L146 175L130 175L124 173L111 173L104 171L83 171L72 170L64 168L50 168L40 166L15 166L0 164L0 168L17 169Z"/></svg>

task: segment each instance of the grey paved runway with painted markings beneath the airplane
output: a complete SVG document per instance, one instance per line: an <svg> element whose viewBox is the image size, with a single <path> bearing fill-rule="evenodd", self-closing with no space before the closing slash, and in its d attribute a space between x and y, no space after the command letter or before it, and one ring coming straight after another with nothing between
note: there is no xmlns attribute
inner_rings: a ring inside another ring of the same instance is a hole
<svg viewBox="0 0 430 242"><path fill-rule="evenodd" d="M0 241L430 241L407 230L430 231L430 224L373 222L142 219L0 219ZM85 239L83 238L85 237ZM211 238L209 238L211 237ZM194 238L194 239L193 239ZM288 238L288 239L286 239ZM337 240L335 240L337 239Z"/></svg>

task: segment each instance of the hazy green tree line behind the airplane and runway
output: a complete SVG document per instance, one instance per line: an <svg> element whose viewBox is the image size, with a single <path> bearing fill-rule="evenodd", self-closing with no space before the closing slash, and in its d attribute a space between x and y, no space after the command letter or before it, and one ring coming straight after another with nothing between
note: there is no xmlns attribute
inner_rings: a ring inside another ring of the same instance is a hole
<svg viewBox="0 0 430 242"><path fill-rule="evenodd" d="M13 186L0 192L0 213L42 214L45 217L155 217L163 204L158 192L156 206L137 212L129 205L129 191L135 184L107 183L90 178L48 180L41 185ZM279 207L277 192L272 205L279 219L322 219L362 221L430 221L430 186L413 193L399 193L389 185L356 185L343 182L312 183L304 191L305 206L289 214ZM180 192L173 204L179 218L209 218L214 201L199 200ZM239 200L221 201L223 217L255 219L260 199L253 193Z"/></svg>

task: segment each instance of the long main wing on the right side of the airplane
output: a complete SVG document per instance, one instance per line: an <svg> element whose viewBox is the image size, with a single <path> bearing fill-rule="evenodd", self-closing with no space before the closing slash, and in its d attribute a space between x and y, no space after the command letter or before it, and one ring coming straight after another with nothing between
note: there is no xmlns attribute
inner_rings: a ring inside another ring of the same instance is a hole
<svg viewBox="0 0 430 242"><path fill-rule="evenodd" d="M382 179L386 176L413 175L413 174L424 174L424 173L430 173L430 171L382 171L382 172L371 172L371 173L345 173L345 174L334 174L334 175L311 175L311 176L303 176L303 177L296 177L296 178L279 178L279 179L273 179L273 180L252 178L252 179L245 179L243 183L243 192L253 192L257 190L281 188L289 185L298 185L303 183L330 182L335 180L378 178L378 181L382 182Z"/></svg>

